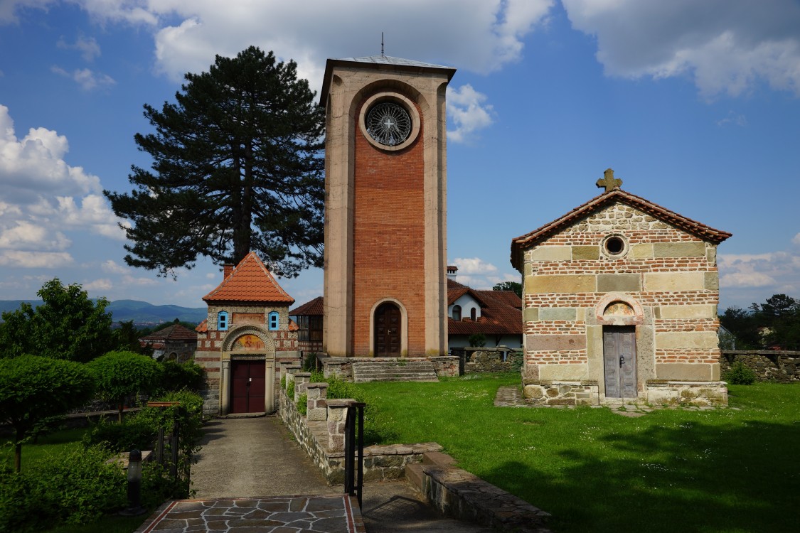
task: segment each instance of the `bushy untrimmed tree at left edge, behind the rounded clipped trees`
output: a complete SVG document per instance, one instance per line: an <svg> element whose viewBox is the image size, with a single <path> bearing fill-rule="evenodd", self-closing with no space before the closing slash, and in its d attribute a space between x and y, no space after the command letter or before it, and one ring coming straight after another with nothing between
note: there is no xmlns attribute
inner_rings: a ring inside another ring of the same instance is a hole
<svg viewBox="0 0 800 533"><path fill-rule="evenodd" d="M114 345L108 301L92 301L79 284L64 286L54 278L39 289L43 304L24 303L2 313L0 356L23 353L86 362Z"/></svg>

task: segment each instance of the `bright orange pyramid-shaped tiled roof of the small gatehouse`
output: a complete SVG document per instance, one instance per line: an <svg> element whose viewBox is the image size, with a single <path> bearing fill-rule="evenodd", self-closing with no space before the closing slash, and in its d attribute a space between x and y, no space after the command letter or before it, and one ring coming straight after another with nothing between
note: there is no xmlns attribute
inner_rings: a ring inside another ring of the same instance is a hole
<svg viewBox="0 0 800 533"><path fill-rule="evenodd" d="M202 298L206 302L259 302L294 304L254 252L248 253L217 288Z"/></svg>

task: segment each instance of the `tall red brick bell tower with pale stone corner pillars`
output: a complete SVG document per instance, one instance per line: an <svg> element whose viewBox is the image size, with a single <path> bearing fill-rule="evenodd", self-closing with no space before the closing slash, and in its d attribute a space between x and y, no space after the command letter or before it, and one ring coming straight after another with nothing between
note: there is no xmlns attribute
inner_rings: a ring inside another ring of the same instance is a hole
<svg viewBox="0 0 800 533"><path fill-rule="evenodd" d="M326 64L330 356L447 352L445 91L454 74L383 55Z"/></svg>

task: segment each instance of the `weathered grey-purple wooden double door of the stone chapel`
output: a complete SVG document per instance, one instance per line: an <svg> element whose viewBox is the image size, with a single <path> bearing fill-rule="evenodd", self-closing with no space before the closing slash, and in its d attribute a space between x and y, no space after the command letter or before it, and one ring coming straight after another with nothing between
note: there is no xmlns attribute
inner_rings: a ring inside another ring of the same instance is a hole
<svg viewBox="0 0 800 533"><path fill-rule="evenodd" d="M636 327L602 328L606 398L636 397Z"/></svg>

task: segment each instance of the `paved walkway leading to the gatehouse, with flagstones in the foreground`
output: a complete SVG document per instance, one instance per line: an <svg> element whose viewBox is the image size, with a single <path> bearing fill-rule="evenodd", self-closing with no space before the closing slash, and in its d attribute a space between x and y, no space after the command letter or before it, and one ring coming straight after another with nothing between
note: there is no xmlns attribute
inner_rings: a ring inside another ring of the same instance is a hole
<svg viewBox="0 0 800 533"><path fill-rule="evenodd" d="M192 467L195 499L164 504L136 533L489 533L444 519L405 481L368 483L362 509L329 487L273 416L206 424Z"/></svg>

